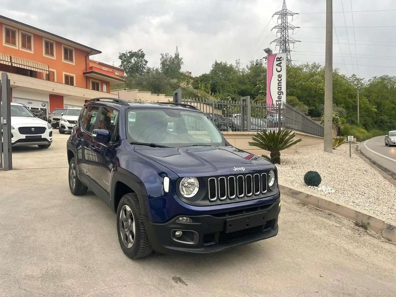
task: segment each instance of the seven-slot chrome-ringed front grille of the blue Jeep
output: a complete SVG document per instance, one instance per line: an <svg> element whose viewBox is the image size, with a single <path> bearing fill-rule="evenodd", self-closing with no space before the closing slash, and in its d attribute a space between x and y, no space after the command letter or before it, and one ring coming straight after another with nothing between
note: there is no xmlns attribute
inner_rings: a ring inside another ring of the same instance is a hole
<svg viewBox="0 0 396 297"><path fill-rule="evenodd" d="M209 177L209 201L258 196L267 192L267 173Z"/></svg>

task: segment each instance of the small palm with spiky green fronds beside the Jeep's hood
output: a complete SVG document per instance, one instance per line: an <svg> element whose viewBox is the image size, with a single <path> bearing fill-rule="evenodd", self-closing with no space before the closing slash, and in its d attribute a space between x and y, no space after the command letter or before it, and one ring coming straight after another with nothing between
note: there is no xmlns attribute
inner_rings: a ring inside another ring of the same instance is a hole
<svg viewBox="0 0 396 297"><path fill-rule="evenodd" d="M268 150L270 156L262 155L262 157L273 164L280 164L280 151L286 150L302 140L299 138L293 141L295 135L295 132L292 133L287 129L269 132L263 130L252 137L253 141L250 141L249 145Z"/></svg>

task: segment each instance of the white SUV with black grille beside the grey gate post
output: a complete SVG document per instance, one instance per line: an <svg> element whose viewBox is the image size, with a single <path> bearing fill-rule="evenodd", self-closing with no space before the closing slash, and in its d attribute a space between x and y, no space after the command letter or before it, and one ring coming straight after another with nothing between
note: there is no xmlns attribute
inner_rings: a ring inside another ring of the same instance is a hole
<svg viewBox="0 0 396 297"><path fill-rule="evenodd" d="M39 148L49 148L51 143L51 125L36 118L25 105L11 102L11 146L37 145Z"/></svg>

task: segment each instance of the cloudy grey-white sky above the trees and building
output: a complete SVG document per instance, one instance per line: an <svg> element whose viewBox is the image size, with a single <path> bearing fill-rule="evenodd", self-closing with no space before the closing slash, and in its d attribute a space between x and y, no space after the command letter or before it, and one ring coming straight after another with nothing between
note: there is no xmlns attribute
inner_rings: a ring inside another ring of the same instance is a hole
<svg viewBox="0 0 396 297"><path fill-rule="evenodd" d="M0 0L0 13L70 38L103 53L93 56L119 65L118 53L143 49L149 66L176 46L183 70L198 76L218 61L242 65L276 52L276 16L283 0ZM287 0L299 15L292 60L324 63L325 0ZM333 0L334 67L370 78L396 71L396 2ZM344 13L342 12L344 11ZM352 14L351 11L354 11ZM353 20L352 20L353 17ZM354 28L353 28L354 26ZM290 32L291 34L292 32ZM337 39L338 38L338 39ZM355 45L356 43L356 45Z"/></svg>

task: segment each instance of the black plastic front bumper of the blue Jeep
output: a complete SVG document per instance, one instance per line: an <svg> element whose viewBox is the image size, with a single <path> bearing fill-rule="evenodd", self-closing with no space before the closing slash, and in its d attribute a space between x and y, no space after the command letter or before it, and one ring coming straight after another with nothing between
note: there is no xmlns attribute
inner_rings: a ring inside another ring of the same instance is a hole
<svg viewBox="0 0 396 297"><path fill-rule="evenodd" d="M192 223L177 222L178 215L166 223L152 223L143 217L154 250L169 255L204 254L222 251L271 238L278 234L280 200L261 207L221 213L186 216ZM176 237L176 231L182 231Z"/></svg>

